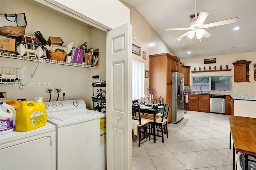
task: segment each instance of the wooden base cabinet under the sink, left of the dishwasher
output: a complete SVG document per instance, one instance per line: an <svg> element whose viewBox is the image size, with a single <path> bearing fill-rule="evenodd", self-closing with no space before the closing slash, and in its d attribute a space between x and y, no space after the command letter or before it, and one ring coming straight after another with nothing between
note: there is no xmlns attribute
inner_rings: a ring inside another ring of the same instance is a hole
<svg viewBox="0 0 256 170"><path fill-rule="evenodd" d="M188 94L188 110L210 112L210 95Z"/></svg>

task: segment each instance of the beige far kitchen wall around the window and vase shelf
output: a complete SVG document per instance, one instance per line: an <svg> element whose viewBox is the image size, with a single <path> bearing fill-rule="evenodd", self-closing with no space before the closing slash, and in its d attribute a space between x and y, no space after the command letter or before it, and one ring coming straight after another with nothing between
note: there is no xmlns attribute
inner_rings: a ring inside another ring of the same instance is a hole
<svg viewBox="0 0 256 170"><path fill-rule="evenodd" d="M204 64L204 59L211 59L216 58L216 63L214 64ZM220 71L220 72L206 72L201 73L200 75L221 75L221 74L229 74L234 75L234 66L232 63L236 62L237 60L246 60L252 61L249 65L250 67L250 83L233 83L233 94L236 95L256 95L256 81L254 81L254 70L253 64L256 63L256 51L253 52L246 52L246 53L235 53L235 54L228 54L228 55L215 55L215 56L206 56L206 57L191 57L191 58L184 58L180 59L182 63L185 63L187 66L191 66L191 71L194 71L194 67L198 71L198 68L206 67L206 70L209 69L211 66L214 69L216 65L217 69L220 69L220 65L222 65L222 69L225 69L226 65L228 65L228 69L232 69L231 71ZM197 75L196 73L190 73L191 75ZM190 79L191 80L191 79ZM190 81L192 84L192 80Z"/></svg>

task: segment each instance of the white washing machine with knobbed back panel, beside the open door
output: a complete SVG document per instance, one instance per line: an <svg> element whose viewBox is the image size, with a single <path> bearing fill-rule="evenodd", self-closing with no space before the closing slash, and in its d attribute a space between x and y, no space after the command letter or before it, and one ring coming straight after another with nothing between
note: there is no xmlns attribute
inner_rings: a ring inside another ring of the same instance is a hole
<svg viewBox="0 0 256 170"><path fill-rule="evenodd" d="M106 115L86 109L84 100L45 102L56 126L56 169L106 169Z"/></svg>

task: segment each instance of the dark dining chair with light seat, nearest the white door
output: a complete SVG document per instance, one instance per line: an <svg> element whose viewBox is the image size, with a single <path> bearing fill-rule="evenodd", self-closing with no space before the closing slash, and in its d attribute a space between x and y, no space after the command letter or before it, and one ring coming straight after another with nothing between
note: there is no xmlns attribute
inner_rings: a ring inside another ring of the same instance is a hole
<svg viewBox="0 0 256 170"><path fill-rule="evenodd" d="M150 121L141 118L139 105L132 105L132 127L137 127L133 129L133 134L139 136L139 147L141 140L145 138L150 140ZM134 130L137 130L137 133Z"/></svg>

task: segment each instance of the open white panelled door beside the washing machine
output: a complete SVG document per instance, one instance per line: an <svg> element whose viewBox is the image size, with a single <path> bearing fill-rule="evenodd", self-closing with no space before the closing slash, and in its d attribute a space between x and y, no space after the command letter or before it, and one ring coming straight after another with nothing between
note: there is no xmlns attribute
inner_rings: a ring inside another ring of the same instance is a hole
<svg viewBox="0 0 256 170"><path fill-rule="evenodd" d="M106 126L107 169L129 170L131 166L132 26L125 24L107 32Z"/></svg>

